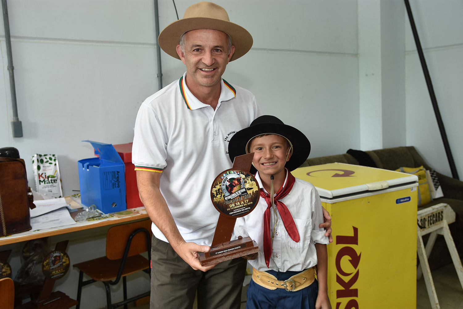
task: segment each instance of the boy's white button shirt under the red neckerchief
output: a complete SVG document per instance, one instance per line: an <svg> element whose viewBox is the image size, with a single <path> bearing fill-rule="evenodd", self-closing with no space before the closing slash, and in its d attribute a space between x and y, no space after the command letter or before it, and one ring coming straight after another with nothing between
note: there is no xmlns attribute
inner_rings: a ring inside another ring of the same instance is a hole
<svg viewBox="0 0 463 309"><path fill-rule="evenodd" d="M259 187L263 189L259 173L257 173L256 179ZM288 174L283 186L286 185L287 179ZM265 189L263 190L265 191ZM273 250L269 267L267 267L263 254L263 215L267 209L267 202L261 197L256 208L250 214L237 218L235 224L236 236L250 236L252 240L256 240L259 246L260 251L257 259L249 260L249 264L259 271L271 269L281 272L303 271L317 265L317 252L314 244L329 243L328 237L325 237L325 229L319 227L319 224L323 223L323 213L317 189L311 183L296 178L291 191L280 201L288 207L292 214L300 240L296 243L289 237L277 210L278 220L275 227ZM275 224L273 217L274 211L270 209L270 227L272 229Z"/></svg>

